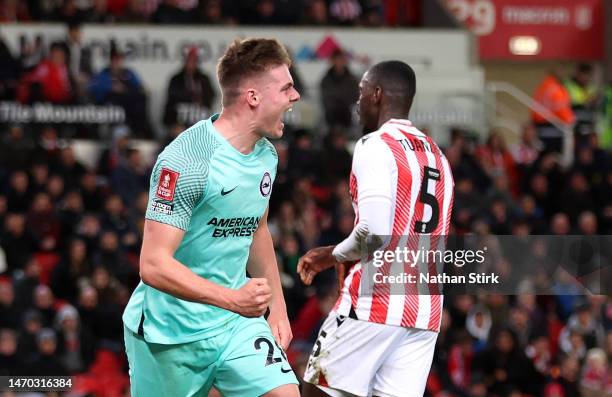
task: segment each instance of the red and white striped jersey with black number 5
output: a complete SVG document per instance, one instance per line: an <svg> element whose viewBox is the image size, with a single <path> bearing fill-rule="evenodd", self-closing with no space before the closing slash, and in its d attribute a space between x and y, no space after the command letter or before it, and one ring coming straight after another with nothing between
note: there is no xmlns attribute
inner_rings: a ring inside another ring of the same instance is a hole
<svg viewBox="0 0 612 397"><path fill-rule="evenodd" d="M453 207L453 176L438 145L407 120L392 119L355 146L350 193L358 203L373 191L391 193L391 238L386 251L444 250ZM388 196L388 195L387 195ZM378 214L377 214L378 215ZM380 263L379 263L380 265ZM373 270L385 275L439 272L433 262L388 261L374 268L356 263L344 280L334 311L358 320L439 331L442 295L437 284L372 283ZM424 290L427 289L427 290Z"/></svg>

